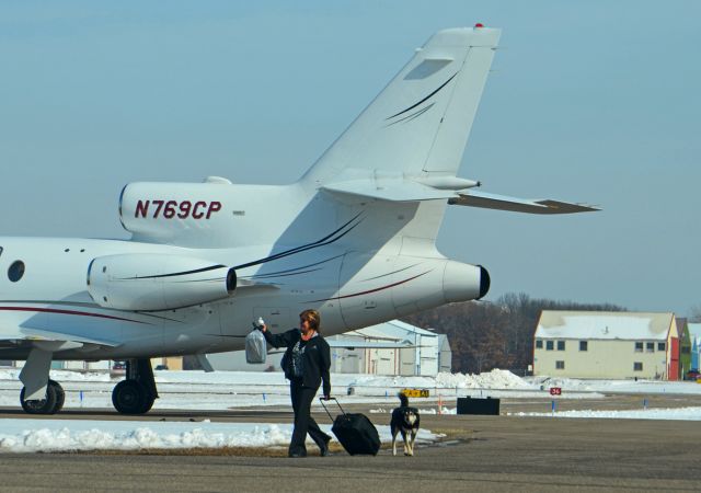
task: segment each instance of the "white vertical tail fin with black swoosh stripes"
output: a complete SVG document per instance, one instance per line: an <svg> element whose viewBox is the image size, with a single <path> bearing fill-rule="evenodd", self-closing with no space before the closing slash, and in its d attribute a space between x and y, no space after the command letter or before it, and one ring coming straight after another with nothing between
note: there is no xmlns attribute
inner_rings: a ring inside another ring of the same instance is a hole
<svg viewBox="0 0 701 493"><path fill-rule="evenodd" d="M501 30L439 31L307 172L456 175Z"/></svg>

